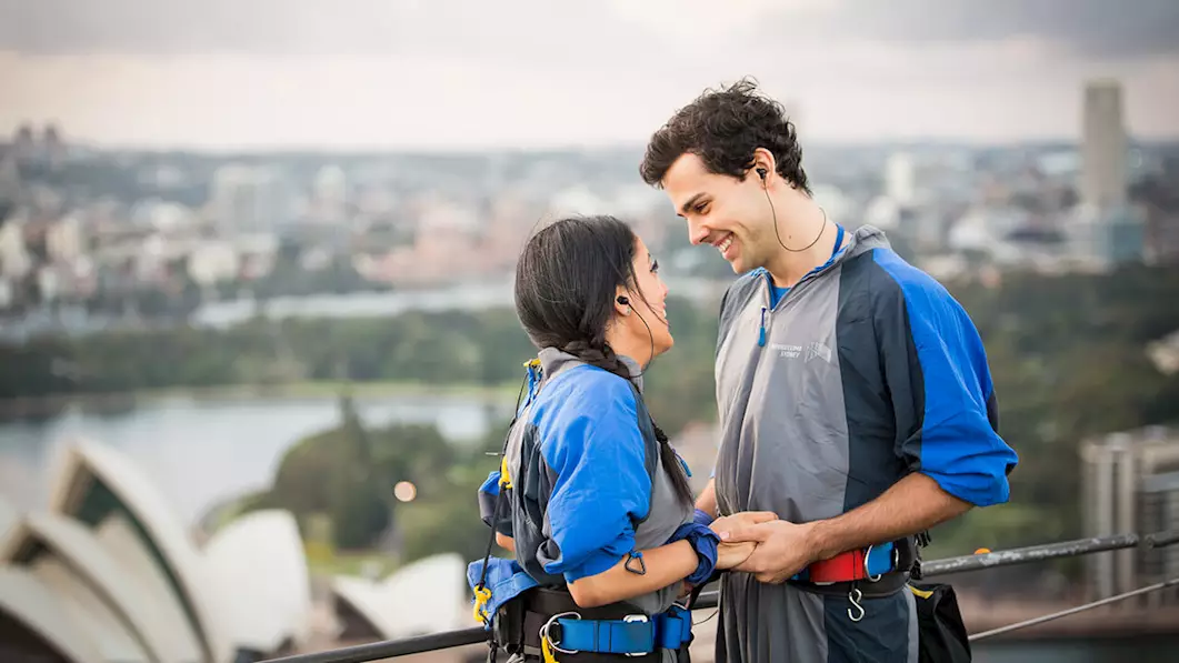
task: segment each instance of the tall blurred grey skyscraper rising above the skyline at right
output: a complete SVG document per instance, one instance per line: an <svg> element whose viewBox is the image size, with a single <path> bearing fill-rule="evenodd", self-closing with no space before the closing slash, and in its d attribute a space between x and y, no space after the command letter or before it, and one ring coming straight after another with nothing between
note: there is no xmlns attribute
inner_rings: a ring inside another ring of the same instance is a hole
<svg viewBox="0 0 1179 663"><path fill-rule="evenodd" d="M1127 145L1118 81L1085 86L1081 140L1081 200L1099 211L1124 204Z"/></svg>

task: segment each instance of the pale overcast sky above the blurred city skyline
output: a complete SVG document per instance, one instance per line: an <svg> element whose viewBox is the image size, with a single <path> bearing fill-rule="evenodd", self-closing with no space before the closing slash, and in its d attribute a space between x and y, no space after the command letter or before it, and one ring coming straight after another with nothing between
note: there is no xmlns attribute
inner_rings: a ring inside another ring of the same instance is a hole
<svg viewBox="0 0 1179 663"><path fill-rule="evenodd" d="M803 139L1179 137L1177 0L0 0L0 132L133 146L641 144L756 77Z"/></svg>

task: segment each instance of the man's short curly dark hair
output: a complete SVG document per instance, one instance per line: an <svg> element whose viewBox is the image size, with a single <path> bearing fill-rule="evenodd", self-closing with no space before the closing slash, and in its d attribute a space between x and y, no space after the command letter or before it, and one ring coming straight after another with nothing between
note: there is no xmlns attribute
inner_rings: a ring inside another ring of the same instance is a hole
<svg viewBox="0 0 1179 663"><path fill-rule="evenodd" d="M757 82L745 78L724 89L706 89L676 111L651 137L639 166L643 181L661 186L671 165L685 153L704 161L709 172L745 179L753 150L773 154L778 174L795 188L811 194L803 171L803 150L795 125L777 101L759 94Z"/></svg>

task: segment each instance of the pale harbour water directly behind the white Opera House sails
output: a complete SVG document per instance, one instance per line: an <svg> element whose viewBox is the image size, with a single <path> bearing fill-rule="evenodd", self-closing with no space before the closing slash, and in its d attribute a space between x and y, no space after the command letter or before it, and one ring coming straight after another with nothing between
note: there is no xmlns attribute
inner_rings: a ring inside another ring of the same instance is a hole
<svg viewBox="0 0 1179 663"><path fill-rule="evenodd" d="M365 424L434 424L459 443L482 439L511 409L511 403L489 406L449 396L358 397L355 403ZM338 404L328 397L172 398L116 413L71 407L46 419L2 423L0 495L20 510L39 508L57 455L71 438L87 437L126 453L191 525L215 505L265 488L286 449L338 417Z"/></svg>

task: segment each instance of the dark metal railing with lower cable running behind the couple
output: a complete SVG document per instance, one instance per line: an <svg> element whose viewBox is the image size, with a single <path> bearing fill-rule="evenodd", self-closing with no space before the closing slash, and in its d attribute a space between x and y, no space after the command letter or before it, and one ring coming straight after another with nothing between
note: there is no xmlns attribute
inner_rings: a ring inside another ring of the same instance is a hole
<svg viewBox="0 0 1179 663"><path fill-rule="evenodd" d="M922 577L944 576L949 574L980 571L983 569L1012 566L1015 564L1029 564L1033 562L1045 562L1048 559L1076 557L1080 555L1092 555L1095 552L1125 550L1129 548L1142 548L1142 549L1164 548L1167 545L1173 545L1175 543L1179 543L1179 530L1166 530L1145 536L1137 533L1128 533L1128 535L1117 535L1108 537L1080 538L1075 541L1066 541L1060 543L1032 545L1027 548L1015 548L1012 550L1003 550L999 552L964 555L962 557L950 557L948 559L933 559L929 562L923 562L921 564L921 575ZM974 634L969 637L971 641L982 639L984 637L1009 632L1026 626L1042 624L1045 622L1059 619L1061 617L1067 617L1069 615L1075 615L1078 612L1082 612L1092 608L1108 605L1109 603L1114 603L1134 596L1140 596L1142 594L1147 594L1151 591L1158 591L1170 586L1179 586L1179 578L1172 578L1170 581L1139 588L1133 591L1128 591L1117 596L1111 596L1108 598L1102 598L1100 601L1094 601L1092 603L1078 605L1075 608L1069 608L1068 610L1062 610L1060 612L1053 612L1050 615L1036 617L1035 619L1028 619L1026 622L1019 622L1016 624L1009 624L1007 626L1002 626L999 629ZM702 592L699 598L697 598L696 603L692 605L692 610L716 608L718 603L717 599L718 599L718 594L716 590ZM487 631L485 631L482 626L473 626L469 629L443 631L439 634L430 634L430 635L416 636L402 639L373 642L367 644L358 644L355 647L345 647L341 649L329 649L325 651L316 651L311 654L284 656L282 658L271 658L262 663L365 663L368 661L377 661L381 658L409 656L413 654L423 654L427 651L436 651L440 649L449 649L453 647L463 647L468 644L477 644L483 642L487 642Z"/></svg>

